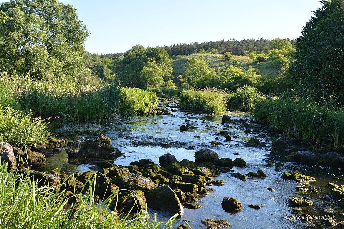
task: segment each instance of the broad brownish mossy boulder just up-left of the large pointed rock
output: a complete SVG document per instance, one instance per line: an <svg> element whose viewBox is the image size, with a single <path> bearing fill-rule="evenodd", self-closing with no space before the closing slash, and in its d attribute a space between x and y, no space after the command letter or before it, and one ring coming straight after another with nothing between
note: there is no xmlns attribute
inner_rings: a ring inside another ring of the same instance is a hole
<svg viewBox="0 0 344 229"><path fill-rule="evenodd" d="M149 178L146 178L139 174L123 174L121 176L116 176L112 178L113 183L115 183L120 189L141 190L143 193L148 193L149 190L157 187L157 185Z"/></svg>

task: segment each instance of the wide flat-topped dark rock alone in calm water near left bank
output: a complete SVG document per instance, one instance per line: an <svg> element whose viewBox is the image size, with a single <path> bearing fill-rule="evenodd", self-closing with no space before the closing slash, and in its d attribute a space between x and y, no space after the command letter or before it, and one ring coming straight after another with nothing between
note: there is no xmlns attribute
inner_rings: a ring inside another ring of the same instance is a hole
<svg viewBox="0 0 344 229"><path fill-rule="evenodd" d="M115 149L101 142L75 142L69 145L67 154L70 157L107 157Z"/></svg>

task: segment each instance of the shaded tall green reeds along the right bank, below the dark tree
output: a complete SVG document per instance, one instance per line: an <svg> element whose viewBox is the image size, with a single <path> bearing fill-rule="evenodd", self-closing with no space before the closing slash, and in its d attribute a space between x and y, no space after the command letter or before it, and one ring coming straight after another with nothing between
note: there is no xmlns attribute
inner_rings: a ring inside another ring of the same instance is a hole
<svg viewBox="0 0 344 229"><path fill-rule="evenodd" d="M344 110L337 107L333 95L319 97L287 93L280 98L261 98L255 105L255 118L280 130L285 136L315 146L344 146Z"/></svg>

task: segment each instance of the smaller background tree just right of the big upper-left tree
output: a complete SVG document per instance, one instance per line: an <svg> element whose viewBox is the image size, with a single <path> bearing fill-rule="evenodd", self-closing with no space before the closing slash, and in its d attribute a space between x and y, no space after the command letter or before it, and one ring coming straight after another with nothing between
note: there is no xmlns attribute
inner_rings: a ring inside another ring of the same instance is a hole
<svg viewBox="0 0 344 229"><path fill-rule="evenodd" d="M86 53L83 62L85 67L91 69L95 76L99 76L100 79L107 80L112 76L111 70L108 68L106 63L111 64L111 61L107 58L107 61L105 62L105 58L102 59L99 54Z"/></svg>

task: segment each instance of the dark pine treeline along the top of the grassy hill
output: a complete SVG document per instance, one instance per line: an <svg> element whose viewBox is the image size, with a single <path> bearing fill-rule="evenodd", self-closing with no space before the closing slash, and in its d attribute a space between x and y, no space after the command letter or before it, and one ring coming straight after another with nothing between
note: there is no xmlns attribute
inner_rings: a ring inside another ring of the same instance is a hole
<svg viewBox="0 0 344 229"><path fill-rule="evenodd" d="M288 38L284 39L293 43L294 40ZM218 51L218 54L224 54L225 52L230 52L236 56L243 56L247 54L247 52L257 52L257 53L266 53L269 51L271 46L271 40L260 38L258 40L255 39L246 39L237 41L234 38L228 41L208 41L202 43L191 43L191 44L174 44L170 46L163 46L167 53L170 56L173 55L191 55L194 53L198 53L199 50L208 51L211 48L215 48Z"/></svg>

